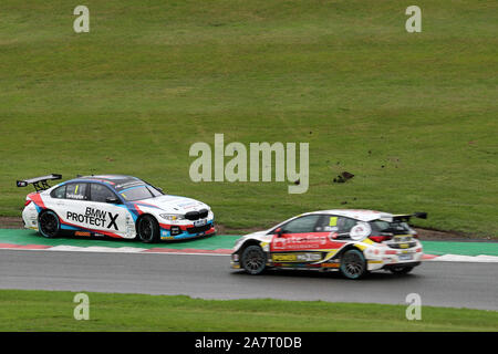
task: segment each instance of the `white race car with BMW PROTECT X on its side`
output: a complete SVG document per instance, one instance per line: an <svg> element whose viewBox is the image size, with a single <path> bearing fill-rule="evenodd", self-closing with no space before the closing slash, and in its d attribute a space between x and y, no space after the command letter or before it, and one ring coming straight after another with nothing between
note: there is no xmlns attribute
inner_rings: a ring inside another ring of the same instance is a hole
<svg viewBox="0 0 498 354"><path fill-rule="evenodd" d="M206 204L165 195L159 188L131 176L77 177L54 187L49 175L18 180L18 187L33 185L25 198L24 227L43 237L63 233L113 237L143 242L180 240L215 235L214 215Z"/></svg>

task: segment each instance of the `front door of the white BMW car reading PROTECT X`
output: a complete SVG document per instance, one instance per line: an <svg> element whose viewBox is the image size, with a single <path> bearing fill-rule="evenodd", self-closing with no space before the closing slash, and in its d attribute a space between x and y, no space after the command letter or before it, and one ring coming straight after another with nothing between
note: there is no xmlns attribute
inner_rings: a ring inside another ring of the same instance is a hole
<svg viewBox="0 0 498 354"><path fill-rule="evenodd" d="M131 218L128 214L121 198L110 187L90 184L90 202L85 209L90 229L105 236L125 237L129 233L126 222Z"/></svg>

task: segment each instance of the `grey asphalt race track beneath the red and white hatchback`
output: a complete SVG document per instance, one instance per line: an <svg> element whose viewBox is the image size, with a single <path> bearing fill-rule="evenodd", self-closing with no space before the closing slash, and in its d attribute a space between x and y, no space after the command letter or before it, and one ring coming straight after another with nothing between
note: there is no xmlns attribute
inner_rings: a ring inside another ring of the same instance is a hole
<svg viewBox="0 0 498 354"><path fill-rule="evenodd" d="M0 288L204 299L274 298L498 310L498 263L424 262L408 275L372 273L350 281L338 272L270 271L252 277L226 256L128 254L0 250Z"/></svg>

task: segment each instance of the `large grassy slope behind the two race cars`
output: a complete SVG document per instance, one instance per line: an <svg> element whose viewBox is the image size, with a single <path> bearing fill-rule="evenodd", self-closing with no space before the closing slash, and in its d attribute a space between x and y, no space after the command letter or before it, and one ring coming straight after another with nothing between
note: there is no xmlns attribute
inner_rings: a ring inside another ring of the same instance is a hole
<svg viewBox="0 0 498 354"><path fill-rule="evenodd" d="M496 1L421 0L414 34L395 0L89 0L86 34L75 6L0 4L0 215L20 215L18 178L116 173L230 228L347 207L498 237ZM310 143L308 192L190 181L215 133Z"/></svg>

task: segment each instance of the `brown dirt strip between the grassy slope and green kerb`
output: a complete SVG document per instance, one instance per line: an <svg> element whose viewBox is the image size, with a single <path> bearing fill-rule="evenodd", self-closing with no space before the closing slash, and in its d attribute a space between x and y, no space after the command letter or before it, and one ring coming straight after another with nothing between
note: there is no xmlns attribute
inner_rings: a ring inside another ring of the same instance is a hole
<svg viewBox="0 0 498 354"><path fill-rule="evenodd" d="M277 225L277 222L276 222ZM22 219L18 217L0 217L0 229L22 229L24 227ZM262 227L252 228L230 228L225 225L216 225L218 235L247 235L263 230ZM476 237L464 232L439 231L415 228L422 240L427 241L474 241L474 242L498 242L498 239L491 237Z"/></svg>

